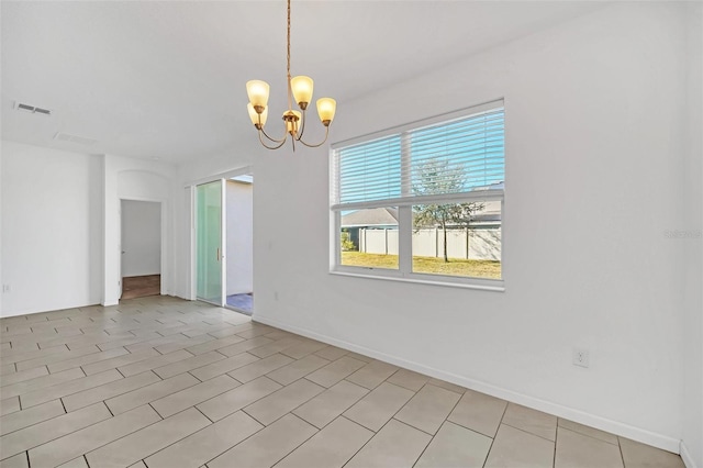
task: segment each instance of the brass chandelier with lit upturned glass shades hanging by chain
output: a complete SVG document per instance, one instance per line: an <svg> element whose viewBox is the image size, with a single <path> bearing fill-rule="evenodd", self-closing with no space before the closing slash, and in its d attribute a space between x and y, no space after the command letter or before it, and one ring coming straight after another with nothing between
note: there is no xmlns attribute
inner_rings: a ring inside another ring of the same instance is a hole
<svg viewBox="0 0 703 468"><path fill-rule="evenodd" d="M266 81L250 80L246 83L246 92L249 97L249 103L247 104L249 118L252 119L252 123L258 131L259 142L261 142L261 145L264 145L268 149L278 149L283 146L283 144L288 140L288 135L291 136L293 151L295 151L295 142L300 142L305 146L315 148L327 141L327 136L330 135L330 124L334 119L334 112L337 108L337 102L332 98L317 99L317 114L320 115L322 124L325 126L325 138L317 144L305 143L302 140L303 132L305 131L305 111L308 110L308 104L310 104L310 101L312 101L313 82L312 78L306 76L297 76L293 78L290 77L290 0L288 0L287 46L288 110L283 112L283 122L286 125L283 137L272 138L266 133L266 130L264 130L264 125L266 125L266 120L268 118L269 94L269 86ZM293 99L300 108L300 111L294 111L292 109ZM264 137L266 137L266 140L272 145L267 145Z"/></svg>

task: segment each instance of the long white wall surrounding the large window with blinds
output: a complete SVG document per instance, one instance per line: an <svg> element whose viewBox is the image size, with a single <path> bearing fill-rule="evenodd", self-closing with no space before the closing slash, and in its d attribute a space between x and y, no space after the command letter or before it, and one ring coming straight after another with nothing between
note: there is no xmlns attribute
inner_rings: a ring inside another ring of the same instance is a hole
<svg viewBox="0 0 703 468"><path fill-rule="evenodd" d="M685 16L616 3L339 103L334 141L505 99L505 292L330 275L327 149L256 159L255 320L678 452Z"/></svg>

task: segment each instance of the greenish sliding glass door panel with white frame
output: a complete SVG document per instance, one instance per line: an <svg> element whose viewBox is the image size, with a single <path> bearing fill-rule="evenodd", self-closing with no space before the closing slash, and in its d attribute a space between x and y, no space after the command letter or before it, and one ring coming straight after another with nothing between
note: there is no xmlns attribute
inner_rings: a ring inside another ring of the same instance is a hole
<svg viewBox="0 0 703 468"><path fill-rule="evenodd" d="M196 296L221 307L224 305L223 185L224 180L216 180L196 190Z"/></svg>

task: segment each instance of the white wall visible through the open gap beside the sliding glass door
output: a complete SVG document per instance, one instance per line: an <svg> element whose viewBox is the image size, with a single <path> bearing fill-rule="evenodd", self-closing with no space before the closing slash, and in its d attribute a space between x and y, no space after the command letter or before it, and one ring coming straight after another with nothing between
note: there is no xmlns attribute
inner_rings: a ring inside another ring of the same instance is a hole
<svg viewBox="0 0 703 468"><path fill-rule="evenodd" d="M227 180L227 296L254 291L254 188Z"/></svg>

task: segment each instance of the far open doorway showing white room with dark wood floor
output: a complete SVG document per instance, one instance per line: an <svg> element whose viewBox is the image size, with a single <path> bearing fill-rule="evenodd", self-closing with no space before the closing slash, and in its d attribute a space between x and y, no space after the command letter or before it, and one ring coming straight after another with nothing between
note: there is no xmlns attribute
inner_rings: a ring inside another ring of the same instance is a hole
<svg viewBox="0 0 703 468"><path fill-rule="evenodd" d="M161 203L121 200L120 299L161 293Z"/></svg>

